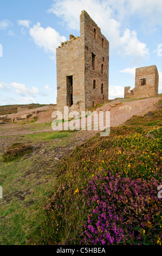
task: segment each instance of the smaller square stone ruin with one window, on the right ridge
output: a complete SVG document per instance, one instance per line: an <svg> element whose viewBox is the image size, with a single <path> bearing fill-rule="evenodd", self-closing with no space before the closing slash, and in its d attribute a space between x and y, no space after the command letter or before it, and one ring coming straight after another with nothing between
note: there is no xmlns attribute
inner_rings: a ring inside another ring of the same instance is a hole
<svg viewBox="0 0 162 256"><path fill-rule="evenodd" d="M135 69L135 88L125 87L125 98L158 95L159 73L155 65Z"/></svg>

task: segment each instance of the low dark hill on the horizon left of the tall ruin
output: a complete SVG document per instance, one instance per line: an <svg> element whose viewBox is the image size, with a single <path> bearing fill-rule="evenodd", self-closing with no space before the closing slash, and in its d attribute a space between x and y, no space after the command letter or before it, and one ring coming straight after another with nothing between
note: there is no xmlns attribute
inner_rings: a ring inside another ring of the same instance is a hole
<svg viewBox="0 0 162 256"><path fill-rule="evenodd" d="M11 113L17 113L17 107L28 107L29 109L37 108L37 107L43 107L47 106L46 104L25 104L25 105L5 105L0 106L0 115L5 114L11 114Z"/></svg>

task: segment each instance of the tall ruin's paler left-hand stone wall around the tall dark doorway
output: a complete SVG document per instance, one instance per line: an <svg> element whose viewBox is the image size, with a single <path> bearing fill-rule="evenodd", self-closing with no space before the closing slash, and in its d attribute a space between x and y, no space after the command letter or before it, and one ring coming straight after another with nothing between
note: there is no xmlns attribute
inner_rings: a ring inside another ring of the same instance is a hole
<svg viewBox="0 0 162 256"><path fill-rule="evenodd" d="M73 109L85 105L85 42L83 36L61 43L56 48L57 110L67 105L67 76L73 76ZM72 107L71 107L72 108ZM76 109L78 110L78 109Z"/></svg>

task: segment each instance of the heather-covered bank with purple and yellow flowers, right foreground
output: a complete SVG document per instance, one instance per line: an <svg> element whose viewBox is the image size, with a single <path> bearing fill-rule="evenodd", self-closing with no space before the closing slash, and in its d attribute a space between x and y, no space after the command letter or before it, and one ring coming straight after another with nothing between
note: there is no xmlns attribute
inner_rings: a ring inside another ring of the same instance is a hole
<svg viewBox="0 0 162 256"><path fill-rule="evenodd" d="M77 147L29 236L37 245L160 245L161 109Z"/></svg>

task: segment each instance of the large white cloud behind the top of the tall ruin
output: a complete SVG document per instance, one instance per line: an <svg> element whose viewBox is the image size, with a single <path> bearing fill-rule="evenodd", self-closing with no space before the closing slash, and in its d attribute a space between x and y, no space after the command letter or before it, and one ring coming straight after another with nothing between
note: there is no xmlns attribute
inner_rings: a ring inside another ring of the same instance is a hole
<svg viewBox="0 0 162 256"><path fill-rule="evenodd" d="M90 17L92 17L101 28L102 33L111 42L111 50L123 56L147 56L148 49L146 44L140 42L137 32L131 31L128 28L125 28L123 31L121 22L118 19L120 15L116 15L115 8L118 7L120 11L120 5L122 7L126 1L120 1L118 5L116 0L113 1L114 2L104 0L55 0L48 11L49 13L54 13L58 17L61 17L68 29L79 31L81 10L86 10ZM116 17L118 20L116 20Z"/></svg>

